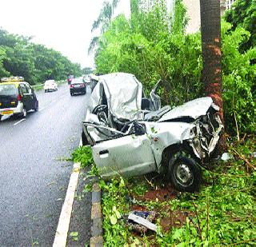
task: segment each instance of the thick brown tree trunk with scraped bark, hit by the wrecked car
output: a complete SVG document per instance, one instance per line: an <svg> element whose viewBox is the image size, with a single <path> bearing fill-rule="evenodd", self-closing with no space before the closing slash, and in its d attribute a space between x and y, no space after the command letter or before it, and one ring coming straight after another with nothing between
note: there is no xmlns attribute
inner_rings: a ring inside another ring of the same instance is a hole
<svg viewBox="0 0 256 247"><path fill-rule="evenodd" d="M222 52L221 52L221 15L220 0L200 0L202 31L202 82L206 95L213 98L219 106L223 122L222 102ZM220 141L223 149L224 139Z"/></svg>

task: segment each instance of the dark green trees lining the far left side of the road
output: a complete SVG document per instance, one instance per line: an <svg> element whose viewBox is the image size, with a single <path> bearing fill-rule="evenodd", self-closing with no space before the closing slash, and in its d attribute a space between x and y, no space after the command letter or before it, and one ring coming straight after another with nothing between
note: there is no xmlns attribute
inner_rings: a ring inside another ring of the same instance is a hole
<svg viewBox="0 0 256 247"><path fill-rule="evenodd" d="M68 74L82 75L80 65L56 50L34 44L30 37L0 29L0 78L22 76L30 85L36 85L47 79L66 79Z"/></svg>

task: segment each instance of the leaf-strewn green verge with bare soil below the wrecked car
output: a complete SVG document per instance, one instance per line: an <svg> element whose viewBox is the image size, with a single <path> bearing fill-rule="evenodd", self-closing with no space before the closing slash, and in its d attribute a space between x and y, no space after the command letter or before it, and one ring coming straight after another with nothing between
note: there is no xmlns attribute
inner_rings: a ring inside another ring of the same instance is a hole
<svg viewBox="0 0 256 247"><path fill-rule="evenodd" d="M203 171L200 193L174 191L159 176L101 180L104 245L255 245L255 148L255 137L230 141L234 158ZM157 233L134 232L132 210L154 211Z"/></svg>

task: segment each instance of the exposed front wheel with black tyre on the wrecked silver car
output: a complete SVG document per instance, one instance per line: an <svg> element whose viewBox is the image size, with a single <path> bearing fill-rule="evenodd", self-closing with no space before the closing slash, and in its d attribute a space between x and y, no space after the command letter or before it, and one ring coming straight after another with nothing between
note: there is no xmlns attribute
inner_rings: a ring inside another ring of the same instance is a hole
<svg viewBox="0 0 256 247"><path fill-rule="evenodd" d="M178 191L198 191L202 181L201 168L190 158L177 157L170 161L169 177Z"/></svg>

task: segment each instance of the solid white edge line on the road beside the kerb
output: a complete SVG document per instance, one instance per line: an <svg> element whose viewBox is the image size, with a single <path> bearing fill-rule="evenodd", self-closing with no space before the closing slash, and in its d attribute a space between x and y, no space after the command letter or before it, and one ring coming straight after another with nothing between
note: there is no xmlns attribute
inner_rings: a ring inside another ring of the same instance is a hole
<svg viewBox="0 0 256 247"><path fill-rule="evenodd" d="M80 143L81 142L82 138L80 139ZM59 216L53 247L66 247L66 239L70 229L70 218L74 202L74 193L78 185L79 172L80 163L74 163L73 171L70 175L70 183L66 190L66 198L62 205L62 212Z"/></svg>

